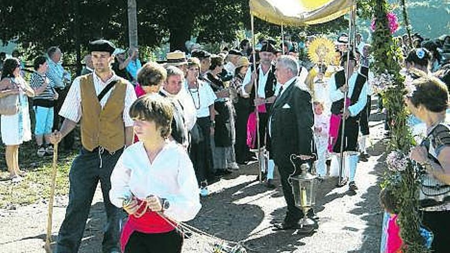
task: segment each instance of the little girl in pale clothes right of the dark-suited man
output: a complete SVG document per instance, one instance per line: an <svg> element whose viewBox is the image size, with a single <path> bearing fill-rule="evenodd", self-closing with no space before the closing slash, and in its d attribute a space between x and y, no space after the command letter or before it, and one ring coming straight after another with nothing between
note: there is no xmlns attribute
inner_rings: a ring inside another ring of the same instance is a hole
<svg viewBox="0 0 450 253"><path fill-rule="evenodd" d="M324 112L324 104L314 101L314 141L316 142L318 159L316 161L317 174L324 177L327 174L326 159L328 146L328 128L330 117Z"/></svg>

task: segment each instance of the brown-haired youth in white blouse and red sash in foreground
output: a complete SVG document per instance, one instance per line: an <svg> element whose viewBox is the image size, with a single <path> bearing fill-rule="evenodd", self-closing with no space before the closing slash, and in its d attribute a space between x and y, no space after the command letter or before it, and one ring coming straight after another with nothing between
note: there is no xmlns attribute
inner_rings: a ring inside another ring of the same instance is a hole
<svg viewBox="0 0 450 253"><path fill-rule="evenodd" d="M145 95L130 108L139 142L129 146L111 174L111 202L129 215L121 235L123 252L181 252L176 222L200 210L199 190L185 149L168 141L172 104Z"/></svg>

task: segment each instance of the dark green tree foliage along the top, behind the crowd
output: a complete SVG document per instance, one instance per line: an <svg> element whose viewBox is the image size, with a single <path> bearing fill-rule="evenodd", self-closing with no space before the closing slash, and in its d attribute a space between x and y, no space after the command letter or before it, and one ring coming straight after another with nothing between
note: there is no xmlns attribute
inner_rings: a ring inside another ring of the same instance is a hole
<svg viewBox="0 0 450 253"><path fill-rule="evenodd" d="M137 5L138 40L143 46L170 42L171 50L184 49L191 36L200 43L232 42L238 31L250 29L247 0L140 0ZM25 50L36 53L51 45L73 53L77 36L82 46L97 38L114 40L121 47L128 44L127 1L123 0L2 0L0 24L4 24L0 39L18 36ZM326 33L345 26L344 18L339 18L320 26L287 27L285 31ZM279 26L259 19L255 30L280 36Z"/></svg>

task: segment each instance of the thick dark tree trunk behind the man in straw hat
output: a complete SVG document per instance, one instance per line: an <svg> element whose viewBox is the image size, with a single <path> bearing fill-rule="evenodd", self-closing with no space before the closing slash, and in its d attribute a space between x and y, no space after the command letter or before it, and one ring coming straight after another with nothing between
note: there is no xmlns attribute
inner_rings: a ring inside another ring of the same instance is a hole
<svg viewBox="0 0 450 253"><path fill-rule="evenodd" d="M190 1L178 1L179 4L168 6L168 24L170 33L170 51L186 51L185 42L191 39L194 26L194 11Z"/></svg>

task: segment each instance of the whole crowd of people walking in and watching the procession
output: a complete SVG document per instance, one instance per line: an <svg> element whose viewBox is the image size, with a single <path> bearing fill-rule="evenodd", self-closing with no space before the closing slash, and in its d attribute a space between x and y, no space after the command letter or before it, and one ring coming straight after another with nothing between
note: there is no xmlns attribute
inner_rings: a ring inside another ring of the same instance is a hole
<svg viewBox="0 0 450 253"><path fill-rule="evenodd" d="M349 190L356 191L357 164L370 157L371 97L378 92L372 85L371 45L361 34L355 49L348 48L349 37L341 34L335 60L328 65L304 57L315 38L285 41L279 47L273 39L261 39L254 45L254 57L246 39L239 48L216 54L190 45L195 49L144 64L138 49L130 49L127 56L113 43L96 40L89 44L82 75L73 81L57 47L35 58L29 82L21 62L7 58L0 98L18 98L17 113L1 116L10 179L20 181L24 173L18 147L32 136L30 97L38 156L52 154L53 144L68 138L80 123L82 149L70 172L70 199L57 252L77 252L99 180L107 214L104 252L141 252L154 245L160 247L155 252L181 252L183 235L175 221L195 217L199 196L209 195L209 183L258 158L261 180L269 189L277 187L278 168L287 203L286 216L275 229L296 228L301 218L314 213L303 214L295 204L288 179L296 168L290 155L315 167L312 172L321 179L336 176L338 164L346 159L343 176ZM413 149L411 157L426 168L428 182L448 187L450 128L444 122L450 36L431 40L415 34L412 43L408 36L396 41L404 50L402 74L416 80L417 90L406 98L413 121L423 121L427 138L438 140L424 146L426 150ZM426 76L416 76L413 68ZM441 236L450 227L436 224L448 220L450 212L448 203L442 204L448 192L438 195L438 209L423 209L428 215L424 222L439 231L435 249L442 248ZM122 208L129 219L120 234Z"/></svg>

